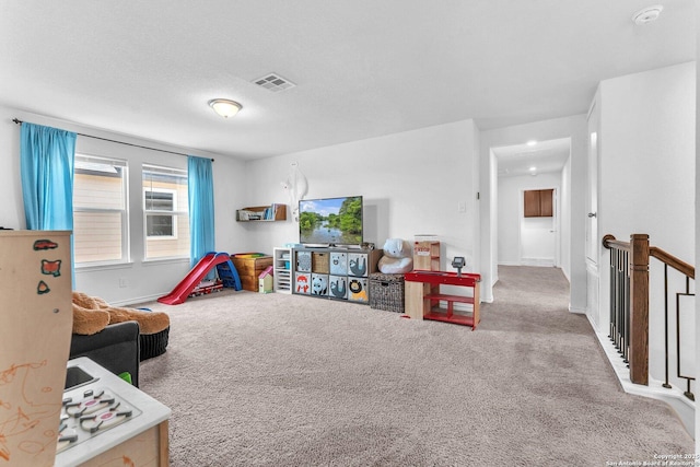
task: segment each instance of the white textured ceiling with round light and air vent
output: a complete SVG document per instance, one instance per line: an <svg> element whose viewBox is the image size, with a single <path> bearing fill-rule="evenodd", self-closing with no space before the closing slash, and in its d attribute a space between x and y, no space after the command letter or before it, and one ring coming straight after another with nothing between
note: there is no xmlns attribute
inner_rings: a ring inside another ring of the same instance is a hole
<svg viewBox="0 0 700 467"><path fill-rule="evenodd" d="M264 157L474 118L585 113L604 79L695 60L695 2L0 2L0 105ZM295 87L253 80L276 72ZM243 104L232 119L207 102Z"/></svg>

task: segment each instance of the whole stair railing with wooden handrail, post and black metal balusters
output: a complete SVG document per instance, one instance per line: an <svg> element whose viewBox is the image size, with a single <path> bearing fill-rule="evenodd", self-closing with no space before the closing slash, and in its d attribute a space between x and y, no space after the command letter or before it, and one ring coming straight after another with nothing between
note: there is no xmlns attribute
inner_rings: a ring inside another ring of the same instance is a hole
<svg viewBox="0 0 700 467"><path fill-rule="evenodd" d="M632 234L629 242L620 242L612 235L603 237L603 246L610 250L610 326L609 337L630 369L630 381L649 385L649 258L658 259L664 265L664 362L665 381L663 386L670 388L668 382L669 342L669 287L668 267L685 277L685 291L676 292L676 376L686 380L684 394L691 400L690 390L693 376L680 372L680 297L695 296L690 292L690 280L695 280L695 268L668 254L649 245L649 235Z"/></svg>

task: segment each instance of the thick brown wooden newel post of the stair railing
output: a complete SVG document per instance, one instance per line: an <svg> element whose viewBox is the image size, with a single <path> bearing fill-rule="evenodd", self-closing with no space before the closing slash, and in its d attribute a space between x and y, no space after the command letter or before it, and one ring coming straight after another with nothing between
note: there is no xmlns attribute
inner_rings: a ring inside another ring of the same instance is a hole
<svg viewBox="0 0 700 467"><path fill-rule="evenodd" d="M630 235L630 380L649 385L649 235Z"/></svg>

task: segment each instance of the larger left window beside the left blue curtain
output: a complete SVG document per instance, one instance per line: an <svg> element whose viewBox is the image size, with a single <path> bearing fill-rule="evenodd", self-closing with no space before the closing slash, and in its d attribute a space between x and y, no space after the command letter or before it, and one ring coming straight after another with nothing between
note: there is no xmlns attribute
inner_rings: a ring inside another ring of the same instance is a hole
<svg viewBox="0 0 700 467"><path fill-rule="evenodd" d="M75 154L73 174L75 264L128 261L126 161Z"/></svg>

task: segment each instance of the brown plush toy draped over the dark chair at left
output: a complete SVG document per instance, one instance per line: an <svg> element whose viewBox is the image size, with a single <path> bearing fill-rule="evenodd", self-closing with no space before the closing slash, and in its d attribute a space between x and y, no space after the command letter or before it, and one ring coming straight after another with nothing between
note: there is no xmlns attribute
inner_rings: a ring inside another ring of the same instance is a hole
<svg viewBox="0 0 700 467"><path fill-rule="evenodd" d="M163 312L110 306L97 296L73 292L73 334L92 335L124 322L138 322L140 332L149 335L168 327L171 319Z"/></svg>

